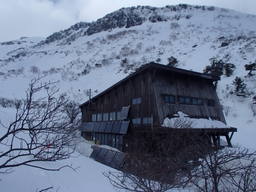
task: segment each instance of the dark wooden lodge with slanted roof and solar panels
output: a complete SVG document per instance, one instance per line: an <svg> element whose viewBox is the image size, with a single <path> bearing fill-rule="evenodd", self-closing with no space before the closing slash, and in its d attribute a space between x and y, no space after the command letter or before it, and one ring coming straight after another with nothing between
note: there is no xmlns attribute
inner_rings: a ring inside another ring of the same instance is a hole
<svg viewBox="0 0 256 192"><path fill-rule="evenodd" d="M81 135L92 143L127 151L127 140L138 131L158 130L165 118L182 111L190 118L211 118L225 122L216 94L220 77L157 63L148 63L99 95L79 106ZM189 129L207 133L215 146L223 136L229 146L236 128ZM168 128L170 131L182 129Z"/></svg>

